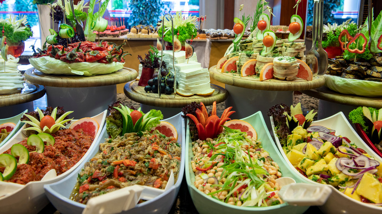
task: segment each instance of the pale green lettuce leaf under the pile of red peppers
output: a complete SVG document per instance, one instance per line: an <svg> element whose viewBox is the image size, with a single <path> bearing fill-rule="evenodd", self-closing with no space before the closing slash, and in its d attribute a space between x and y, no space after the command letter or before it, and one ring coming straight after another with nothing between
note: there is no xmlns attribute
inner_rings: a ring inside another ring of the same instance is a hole
<svg viewBox="0 0 382 214"><path fill-rule="evenodd" d="M123 68L123 63L66 63L52 57L29 58L29 63L45 74L94 76L109 74Z"/></svg>

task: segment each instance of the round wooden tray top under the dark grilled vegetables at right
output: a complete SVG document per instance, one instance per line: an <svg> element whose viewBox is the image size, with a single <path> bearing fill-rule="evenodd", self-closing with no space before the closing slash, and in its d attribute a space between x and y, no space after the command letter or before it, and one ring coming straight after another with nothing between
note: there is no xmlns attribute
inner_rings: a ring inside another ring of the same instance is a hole
<svg viewBox="0 0 382 214"><path fill-rule="evenodd" d="M348 105L382 108L382 97L362 97L350 94L341 94L323 86L316 89L303 90L302 93L321 100Z"/></svg>

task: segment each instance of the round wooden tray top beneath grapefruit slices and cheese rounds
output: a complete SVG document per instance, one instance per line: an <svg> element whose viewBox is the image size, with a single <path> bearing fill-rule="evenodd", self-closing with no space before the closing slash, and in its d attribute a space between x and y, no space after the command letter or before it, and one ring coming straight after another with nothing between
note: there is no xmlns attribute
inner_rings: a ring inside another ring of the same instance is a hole
<svg viewBox="0 0 382 214"><path fill-rule="evenodd" d="M325 84L325 79L322 76L317 76L313 78L312 81L301 79L295 79L293 81L276 79L260 81L259 78L254 78L251 76L241 77L240 74L237 73L222 73L220 69L216 69L216 65L210 68L210 77L216 81L231 86L269 91L309 90L321 87Z"/></svg>

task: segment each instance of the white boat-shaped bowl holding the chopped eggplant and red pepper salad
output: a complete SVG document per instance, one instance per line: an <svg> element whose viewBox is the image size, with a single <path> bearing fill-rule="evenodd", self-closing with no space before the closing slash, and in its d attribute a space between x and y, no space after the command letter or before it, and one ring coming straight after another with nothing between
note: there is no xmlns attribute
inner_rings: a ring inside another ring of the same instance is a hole
<svg viewBox="0 0 382 214"><path fill-rule="evenodd" d="M157 197L147 200L143 203L137 204L134 208L127 210L122 213L128 214L164 214L168 213L171 209L172 204L175 201L176 195L179 192L180 184L182 183L182 178L184 175L184 163L185 163L185 126L184 119L181 117L181 113L170 117L166 120L171 123L178 132L178 143L181 145L181 166L178 174L178 178L175 184L164 193L158 195ZM81 163L81 165L73 171L73 173L66 178L54 184L45 185L45 191L50 202L53 206L63 214L80 214L86 208L85 204L81 204L69 199L72 190L77 182L77 175L83 169L84 164L89 161L96 153L99 152L99 143L103 143L104 139L108 138L106 129L102 130L97 148L91 151L91 154L87 156L86 160ZM106 195L113 194L107 193ZM107 206L107 205L105 205ZM100 211L101 212L101 211Z"/></svg>

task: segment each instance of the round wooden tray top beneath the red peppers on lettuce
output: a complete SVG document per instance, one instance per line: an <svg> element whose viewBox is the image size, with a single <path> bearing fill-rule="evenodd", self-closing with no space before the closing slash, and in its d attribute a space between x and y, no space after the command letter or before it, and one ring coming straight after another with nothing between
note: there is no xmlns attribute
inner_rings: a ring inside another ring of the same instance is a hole
<svg viewBox="0 0 382 214"><path fill-rule="evenodd" d="M124 67L110 74L87 76L67 76L44 74L36 68L30 68L24 73L25 78L35 84L53 87L96 87L110 86L134 80L138 72Z"/></svg>

